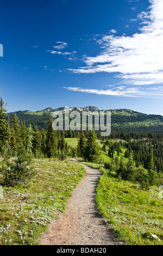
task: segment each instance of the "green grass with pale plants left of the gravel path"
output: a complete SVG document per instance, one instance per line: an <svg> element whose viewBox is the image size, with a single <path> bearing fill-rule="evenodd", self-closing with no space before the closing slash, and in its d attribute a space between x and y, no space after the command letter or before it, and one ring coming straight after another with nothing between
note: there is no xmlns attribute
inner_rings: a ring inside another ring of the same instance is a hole
<svg viewBox="0 0 163 256"><path fill-rule="evenodd" d="M3 187L0 199L0 245L35 245L37 238L58 212L84 176L84 168L74 162L35 159L37 175L29 187Z"/></svg>

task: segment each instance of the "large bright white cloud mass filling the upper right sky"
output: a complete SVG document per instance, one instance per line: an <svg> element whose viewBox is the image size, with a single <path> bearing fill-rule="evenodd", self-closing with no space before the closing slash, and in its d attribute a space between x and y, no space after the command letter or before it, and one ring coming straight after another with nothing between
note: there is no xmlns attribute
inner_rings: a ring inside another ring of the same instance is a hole
<svg viewBox="0 0 163 256"><path fill-rule="evenodd" d="M139 33L103 36L97 42L104 50L96 57L84 56L86 66L69 70L79 74L116 72L126 84L163 83L163 1L149 3L149 9L138 16L143 21Z"/></svg>

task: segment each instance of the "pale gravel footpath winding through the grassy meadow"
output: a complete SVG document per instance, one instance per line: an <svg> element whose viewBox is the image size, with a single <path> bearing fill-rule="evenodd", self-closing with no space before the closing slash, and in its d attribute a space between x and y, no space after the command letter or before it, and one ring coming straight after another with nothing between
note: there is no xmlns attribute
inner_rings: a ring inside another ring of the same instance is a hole
<svg viewBox="0 0 163 256"><path fill-rule="evenodd" d="M77 161L73 159L73 161ZM85 167L85 176L72 192L66 211L54 220L39 239L41 245L118 245L111 227L99 215L95 203L96 186L101 172Z"/></svg>

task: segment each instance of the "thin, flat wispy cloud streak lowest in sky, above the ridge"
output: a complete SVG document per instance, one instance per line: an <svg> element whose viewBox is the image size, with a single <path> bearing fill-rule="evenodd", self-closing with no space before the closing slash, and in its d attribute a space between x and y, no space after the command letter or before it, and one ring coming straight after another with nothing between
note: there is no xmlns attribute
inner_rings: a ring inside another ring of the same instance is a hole
<svg viewBox="0 0 163 256"><path fill-rule="evenodd" d="M98 95L123 96L123 97L161 97L163 96L163 88L161 86L149 86L142 88L139 86L108 86L109 89L90 89L81 87L64 87L73 92L91 93Z"/></svg>

